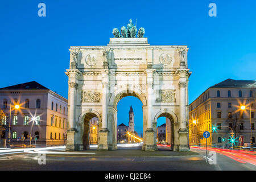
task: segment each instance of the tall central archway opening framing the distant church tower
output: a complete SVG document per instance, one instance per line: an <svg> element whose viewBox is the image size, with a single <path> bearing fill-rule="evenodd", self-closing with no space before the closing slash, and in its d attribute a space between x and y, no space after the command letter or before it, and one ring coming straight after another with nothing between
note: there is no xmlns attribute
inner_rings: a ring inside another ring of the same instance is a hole
<svg viewBox="0 0 256 182"><path fill-rule="evenodd" d="M117 147L118 149L142 148L143 104L134 95L122 94L117 103Z"/></svg>

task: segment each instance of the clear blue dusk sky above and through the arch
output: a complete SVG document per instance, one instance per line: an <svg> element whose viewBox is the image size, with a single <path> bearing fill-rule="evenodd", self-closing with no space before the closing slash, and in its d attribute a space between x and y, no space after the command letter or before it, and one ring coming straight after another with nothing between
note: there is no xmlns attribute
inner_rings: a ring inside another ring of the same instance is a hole
<svg viewBox="0 0 256 182"><path fill-rule="evenodd" d="M46 17L38 4L46 4ZM208 7L216 3L217 16ZM137 19L151 45L187 45L189 103L227 78L255 80L256 1L1 1L0 87L37 81L68 97L70 46L104 46L112 30ZM133 105L135 130L142 131L142 103L118 104L118 125L128 123ZM160 119L161 120L161 119ZM159 121L162 125L164 119Z"/></svg>

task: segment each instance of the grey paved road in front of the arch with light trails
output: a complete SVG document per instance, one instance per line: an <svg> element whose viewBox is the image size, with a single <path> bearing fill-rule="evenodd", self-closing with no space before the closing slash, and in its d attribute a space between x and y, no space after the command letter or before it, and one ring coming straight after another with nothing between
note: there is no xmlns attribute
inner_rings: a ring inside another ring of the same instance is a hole
<svg viewBox="0 0 256 182"><path fill-rule="evenodd" d="M106 151L108 156L102 156L104 152L98 153L96 150L86 152L97 153L82 155L69 154L65 151L61 154L48 153L46 154L46 164L38 163L38 154L23 153L12 154L0 157L0 170L86 170L86 171L213 171L213 170L255 170L255 166L251 164L242 164L227 156L217 154L217 165L210 165L205 162L204 150L193 148L199 154L191 152L183 153L185 156L180 156L182 152L173 152L164 150L152 152L152 155L141 156L140 147L131 147L129 150L125 147L119 148L117 151ZM135 150L137 149L137 150ZM176 154L176 156L168 156L166 154ZM100 154L100 155L99 155ZM119 154L118 157L110 156L109 154ZM137 157L129 156L128 154L138 154ZM146 154L146 153L145 153ZM155 155L156 154L156 155ZM159 156L163 154L163 156Z"/></svg>

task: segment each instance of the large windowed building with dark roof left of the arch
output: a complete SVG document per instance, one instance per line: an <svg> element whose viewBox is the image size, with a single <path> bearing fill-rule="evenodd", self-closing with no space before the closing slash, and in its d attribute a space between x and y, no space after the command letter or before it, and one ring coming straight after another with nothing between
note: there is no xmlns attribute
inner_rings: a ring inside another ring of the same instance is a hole
<svg viewBox="0 0 256 182"><path fill-rule="evenodd" d="M19 109L15 108L19 105ZM64 144L68 128L68 100L56 92L31 81L0 88L0 107L5 113L0 121L8 138L11 119L11 144ZM11 117L10 117L11 108Z"/></svg>

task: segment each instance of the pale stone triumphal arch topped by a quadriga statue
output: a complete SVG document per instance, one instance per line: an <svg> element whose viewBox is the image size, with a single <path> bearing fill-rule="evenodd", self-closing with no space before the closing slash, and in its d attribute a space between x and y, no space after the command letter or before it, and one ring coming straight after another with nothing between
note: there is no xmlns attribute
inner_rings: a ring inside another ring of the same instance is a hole
<svg viewBox="0 0 256 182"><path fill-rule="evenodd" d="M143 104L143 147L156 147L156 121L171 121L171 150L188 151L187 46L150 46L144 28L113 30L107 46L72 46L68 76L66 150L88 150L89 120L98 117L98 150L117 149L117 104L126 96ZM137 35L137 37L136 37Z"/></svg>

